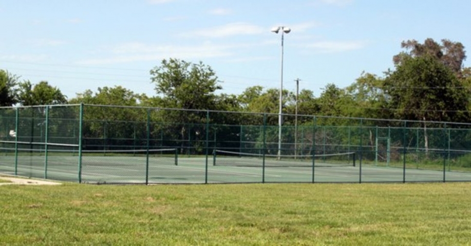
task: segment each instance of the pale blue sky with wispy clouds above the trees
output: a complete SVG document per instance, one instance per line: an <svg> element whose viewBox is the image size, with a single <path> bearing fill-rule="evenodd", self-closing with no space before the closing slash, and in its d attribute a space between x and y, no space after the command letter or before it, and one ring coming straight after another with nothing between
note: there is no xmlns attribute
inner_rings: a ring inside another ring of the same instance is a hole
<svg viewBox="0 0 471 246"><path fill-rule="evenodd" d="M0 0L0 69L48 81L69 99L122 86L157 95L162 59L210 66L222 90L345 88L394 69L401 42L471 47L467 0ZM288 27L281 49L281 33ZM470 66L465 61L464 66Z"/></svg>

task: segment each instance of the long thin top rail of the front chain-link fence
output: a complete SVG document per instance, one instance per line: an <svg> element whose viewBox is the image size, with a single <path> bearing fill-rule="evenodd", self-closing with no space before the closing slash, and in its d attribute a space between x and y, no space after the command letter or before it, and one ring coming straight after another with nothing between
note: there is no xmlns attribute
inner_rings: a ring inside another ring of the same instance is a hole
<svg viewBox="0 0 471 246"><path fill-rule="evenodd" d="M177 109L177 108L158 108L158 107L142 107L142 106L118 106L118 105L94 105L94 104L65 104L65 105L36 105L36 106L13 106L13 107L0 107L2 109L22 109L22 108L45 108L45 107L104 107L104 108L130 108L130 109L144 109L144 110L174 110L186 112L205 112L205 113L231 113L231 114L252 114L252 115L265 115L265 116L278 116L277 113L258 113L258 112L235 112L235 111L219 111L219 110L205 110L205 109ZM310 117L314 119L346 119L346 120L369 120L369 121L388 121L388 122L403 122L403 123L419 123L419 124L443 124L446 125L459 125L470 126L471 124L465 122L449 122L449 121L423 121L423 120L401 120L401 119L375 119L375 118L358 118L346 116L323 116L323 115L303 115L303 114L281 114L282 116L293 117Z"/></svg>

